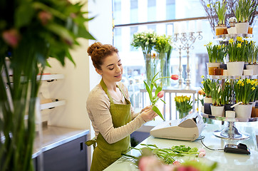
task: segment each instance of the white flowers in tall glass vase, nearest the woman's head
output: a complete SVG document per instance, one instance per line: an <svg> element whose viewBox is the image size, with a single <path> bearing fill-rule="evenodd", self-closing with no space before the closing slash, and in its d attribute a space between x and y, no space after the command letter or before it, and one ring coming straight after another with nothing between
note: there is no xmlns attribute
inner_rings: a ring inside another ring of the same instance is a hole
<svg viewBox="0 0 258 171"><path fill-rule="evenodd" d="M151 78L153 78L153 68L151 68L151 51L153 50L156 44L156 33L153 30L138 32L133 34L133 41L131 46L135 48L142 48L143 57L145 60L145 73L146 73L146 81L148 84L151 82Z"/></svg>

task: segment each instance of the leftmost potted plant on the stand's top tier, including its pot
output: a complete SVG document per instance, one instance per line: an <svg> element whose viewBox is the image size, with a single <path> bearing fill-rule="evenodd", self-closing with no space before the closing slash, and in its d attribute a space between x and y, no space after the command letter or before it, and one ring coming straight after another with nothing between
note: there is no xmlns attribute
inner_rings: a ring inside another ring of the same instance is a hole
<svg viewBox="0 0 258 171"><path fill-rule="evenodd" d="M225 25L225 17L226 17L226 11L227 11L227 1L217 1L215 4L208 4L207 6L210 8L212 6L215 9L215 12L217 14L217 17L219 19L219 22L217 26L215 26L215 33L216 36L225 34L225 30L227 29L227 26Z"/></svg>

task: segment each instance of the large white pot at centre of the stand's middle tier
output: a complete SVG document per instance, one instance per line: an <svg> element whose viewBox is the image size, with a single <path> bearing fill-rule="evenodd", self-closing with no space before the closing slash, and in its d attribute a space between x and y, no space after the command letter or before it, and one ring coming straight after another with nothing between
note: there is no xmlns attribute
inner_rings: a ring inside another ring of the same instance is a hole
<svg viewBox="0 0 258 171"><path fill-rule="evenodd" d="M227 75L228 76L242 76L244 70L244 62L227 62Z"/></svg>

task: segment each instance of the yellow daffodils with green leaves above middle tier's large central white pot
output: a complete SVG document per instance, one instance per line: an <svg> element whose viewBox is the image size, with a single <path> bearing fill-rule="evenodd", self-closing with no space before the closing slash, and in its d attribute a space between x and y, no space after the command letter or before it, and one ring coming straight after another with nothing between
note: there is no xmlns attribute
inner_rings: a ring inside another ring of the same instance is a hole
<svg viewBox="0 0 258 171"><path fill-rule="evenodd" d="M237 37L236 40L230 38L227 47L229 62L247 61L248 41Z"/></svg>

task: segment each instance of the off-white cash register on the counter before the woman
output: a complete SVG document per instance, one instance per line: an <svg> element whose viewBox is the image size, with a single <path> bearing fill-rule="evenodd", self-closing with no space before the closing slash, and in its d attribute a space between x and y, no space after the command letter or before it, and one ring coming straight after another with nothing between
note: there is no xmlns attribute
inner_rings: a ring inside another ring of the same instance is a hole
<svg viewBox="0 0 258 171"><path fill-rule="evenodd" d="M202 116L198 113L190 113L185 118L165 121L155 126L150 130L150 135L155 138L194 141L200 137L204 128Z"/></svg>

